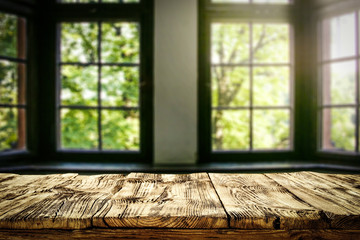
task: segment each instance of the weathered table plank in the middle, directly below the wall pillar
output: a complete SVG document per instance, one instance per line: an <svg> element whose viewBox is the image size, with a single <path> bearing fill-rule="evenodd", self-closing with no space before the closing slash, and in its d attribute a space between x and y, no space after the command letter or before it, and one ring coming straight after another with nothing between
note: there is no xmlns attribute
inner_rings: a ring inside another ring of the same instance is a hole
<svg viewBox="0 0 360 240"><path fill-rule="evenodd" d="M206 173L131 173L111 205L94 216L94 226L227 228L228 223Z"/></svg>

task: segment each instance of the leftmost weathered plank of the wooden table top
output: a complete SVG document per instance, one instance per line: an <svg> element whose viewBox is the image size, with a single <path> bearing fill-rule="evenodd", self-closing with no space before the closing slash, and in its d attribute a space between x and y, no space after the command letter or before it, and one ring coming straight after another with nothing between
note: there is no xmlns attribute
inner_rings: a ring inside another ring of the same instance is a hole
<svg viewBox="0 0 360 240"><path fill-rule="evenodd" d="M17 175L0 183L0 228L81 229L108 204L123 175Z"/></svg>

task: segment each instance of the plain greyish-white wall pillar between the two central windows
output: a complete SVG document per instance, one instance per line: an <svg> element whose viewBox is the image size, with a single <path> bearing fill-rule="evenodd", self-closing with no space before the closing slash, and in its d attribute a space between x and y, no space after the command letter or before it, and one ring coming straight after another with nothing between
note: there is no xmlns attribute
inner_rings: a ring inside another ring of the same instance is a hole
<svg viewBox="0 0 360 240"><path fill-rule="evenodd" d="M197 1L155 0L155 164L197 151Z"/></svg>

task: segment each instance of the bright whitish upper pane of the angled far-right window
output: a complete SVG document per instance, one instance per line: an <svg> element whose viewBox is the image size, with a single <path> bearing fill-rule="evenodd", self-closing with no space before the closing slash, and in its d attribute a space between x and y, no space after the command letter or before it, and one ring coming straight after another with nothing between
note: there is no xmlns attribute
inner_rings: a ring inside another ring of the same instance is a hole
<svg viewBox="0 0 360 240"><path fill-rule="evenodd" d="M355 56L355 13L323 22L323 59Z"/></svg>

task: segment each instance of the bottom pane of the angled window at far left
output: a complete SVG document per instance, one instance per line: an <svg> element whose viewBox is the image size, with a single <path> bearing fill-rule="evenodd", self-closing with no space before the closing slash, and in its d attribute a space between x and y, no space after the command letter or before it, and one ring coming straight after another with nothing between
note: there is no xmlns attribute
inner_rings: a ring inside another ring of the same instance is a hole
<svg viewBox="0 0 360 240"><path fill-rule="evenodd" d="M25 149L25 110L0 108L0 151Z"/></svg>

